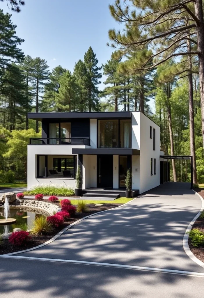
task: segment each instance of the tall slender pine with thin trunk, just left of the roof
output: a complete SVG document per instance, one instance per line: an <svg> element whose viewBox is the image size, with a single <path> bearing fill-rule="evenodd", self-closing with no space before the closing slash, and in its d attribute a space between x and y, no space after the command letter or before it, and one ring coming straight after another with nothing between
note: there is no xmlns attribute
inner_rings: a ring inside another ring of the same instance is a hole
<svg viewBox="0 0 204 298"><path fill-rule="evenodd" d="M27 113L31 111L31 105L32 105L32 86L31 86L32 63L33 63L32 58L29 55L27 55L24 58L23 62L20 64L20 68L25 75L26 86L27 86L26 129L29 129Z"/></svg>

